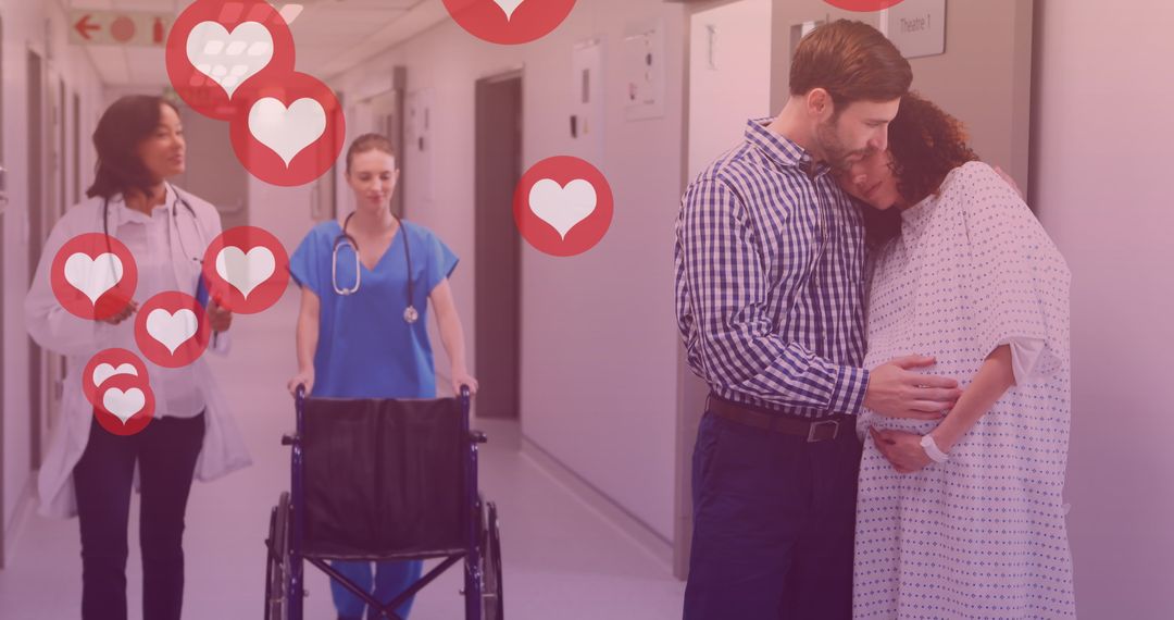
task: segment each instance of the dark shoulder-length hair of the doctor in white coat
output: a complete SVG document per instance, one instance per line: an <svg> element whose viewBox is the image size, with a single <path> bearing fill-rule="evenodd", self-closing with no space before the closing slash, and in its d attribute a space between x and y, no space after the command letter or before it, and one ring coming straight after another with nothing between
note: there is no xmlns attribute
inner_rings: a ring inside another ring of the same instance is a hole
<svg viewBox="0 0 1174 620"><path fill-rule="evenodd" d="M163 106L180 113L170 101L151 95L124 96L107 108L94 130L97 164L94 184L86 190L87 196L110 198L129 190L150 196L151 188L160 180L147 169L139 156L139 147L158 128Z"/></svg>

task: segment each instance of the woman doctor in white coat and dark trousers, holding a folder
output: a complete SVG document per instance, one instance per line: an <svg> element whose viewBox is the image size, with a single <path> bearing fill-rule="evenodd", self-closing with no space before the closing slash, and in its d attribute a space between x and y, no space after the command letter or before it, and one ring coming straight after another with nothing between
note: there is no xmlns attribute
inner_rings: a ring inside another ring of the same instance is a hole
<svg viewBox="0 0 1174 620"><path fill-rule="evenodd" d="M40 470L41 513L79 517L82 618L127 618L126 561L130 492L142 494L140 541L144 620L177 620L183 600L183 519L191 480L212 480L250 464L244 443L203 358L160 368L139 353L134 312L166 291L196 295L201 262L221 232L220 214L167 178L184 170L177 109L161 97L115 102L94 133L99 164L88 200L69 209L45 244L25 299L29 335L68 358L63 415ZM103 232L130 250L139 285L124 310L103 321L69 314L54 297L49 270L77 235ZM225 353L231 314L207 302L209 351ZM155 417L133 436L102 429L82 393L90 358L121 348L143 358L155 393Z"/></svg>

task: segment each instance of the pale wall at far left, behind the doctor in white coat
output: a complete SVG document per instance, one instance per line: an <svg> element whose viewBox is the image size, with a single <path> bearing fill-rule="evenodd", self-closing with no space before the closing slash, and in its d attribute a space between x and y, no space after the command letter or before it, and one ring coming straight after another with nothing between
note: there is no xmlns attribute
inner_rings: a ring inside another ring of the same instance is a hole
<svg viewBox="0 0 1174 620"><path fill-rule="evenodd" d="M28 215L28 50L38 52L42 59L47 52L53 59L46 61L47 80L63 78L67 88L66 127L73 123L74 93L81 95L81 171L82 191L88 186L93 170L94 154L90 135L103 105L101 85L88 56L68 45L65 14L56 2L29 2L27 0L0 0L0 16L4 19L4 164L8 168L8 195L11 203L5 217L4 240L0 242L0 258L5 270L5 289L0 291L0 303L5 306L5 397L2 403L4 424L4 514L2 525L12 525L18 508L16 500L31 480L31 420L28 417L28 337L25 332L23 298L28 288L28 244L23 232ZM50 22L46 35L46 20ZM72 149L72 136L67 139ZM72 151L66 155L69 171L68 196L73 196ZM46 168L46 174L48 168Z"/></svg>

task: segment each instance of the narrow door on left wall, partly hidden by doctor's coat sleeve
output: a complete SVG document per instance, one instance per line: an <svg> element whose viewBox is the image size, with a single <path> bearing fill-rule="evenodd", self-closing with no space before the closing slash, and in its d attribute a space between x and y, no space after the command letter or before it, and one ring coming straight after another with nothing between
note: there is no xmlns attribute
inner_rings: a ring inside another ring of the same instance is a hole
<svg viewBox="0 0 1174 620"><path fill-rule="evenodd" d="M45 242L45 74L40 54L29 50L28 65L28 277L32 282ZM41 463L41 425L45 419L45 353L28 339L28 412L31 424L31 466Z"/></svg>

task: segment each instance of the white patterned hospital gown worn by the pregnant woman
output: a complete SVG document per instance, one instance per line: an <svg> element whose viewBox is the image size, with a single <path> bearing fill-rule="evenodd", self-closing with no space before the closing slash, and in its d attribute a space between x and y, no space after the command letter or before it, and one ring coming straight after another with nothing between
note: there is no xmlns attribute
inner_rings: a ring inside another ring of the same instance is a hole
<svg viewBox="0 0 1174 620"><path fill-rule="evenodd" d="M865 368L932 355L965 389L1000 344L1012 386L945 464L900 474L865 442L856 524L855 618L1072 618L1061 499L1068 452L1068 285L1064 258L989 166L954 169L939 197L902 214L878 252ZM933 422L865 411L869 426L924 434Z"/></svg>

